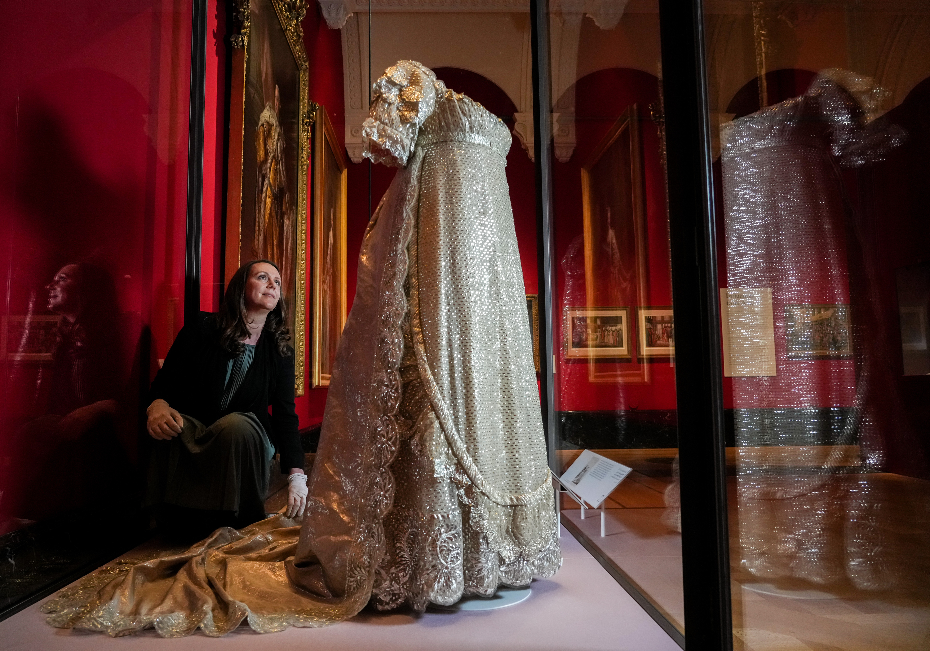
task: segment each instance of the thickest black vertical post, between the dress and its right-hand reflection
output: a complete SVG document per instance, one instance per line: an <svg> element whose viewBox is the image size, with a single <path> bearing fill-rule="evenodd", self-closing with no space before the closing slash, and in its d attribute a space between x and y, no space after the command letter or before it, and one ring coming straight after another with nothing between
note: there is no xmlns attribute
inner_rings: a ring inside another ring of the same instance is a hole
<svg viewBox="0 0 930 651"><path fill-rule="evenodd" d="M724 450L724 372L702 0L659 0L669 178L684 631L733 648Z"/></svg>

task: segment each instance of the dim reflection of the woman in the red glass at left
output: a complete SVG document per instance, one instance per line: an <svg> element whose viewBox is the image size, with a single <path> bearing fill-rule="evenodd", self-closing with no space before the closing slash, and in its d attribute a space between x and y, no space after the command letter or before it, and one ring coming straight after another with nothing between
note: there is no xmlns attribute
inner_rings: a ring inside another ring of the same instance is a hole
<svg viewBox="0 0 930 651"><path fill-rule="evenodd" d="M33 520L85 506L106 492L114 475L130 472L116 436L124 373L113 277L96 265L69 264L46 290L47 307L60 320L51 372L39 385L43 415L18 433L16 458L30 462L4 500ZM49 482L49 475L68 476L69 489Z"/></svg>

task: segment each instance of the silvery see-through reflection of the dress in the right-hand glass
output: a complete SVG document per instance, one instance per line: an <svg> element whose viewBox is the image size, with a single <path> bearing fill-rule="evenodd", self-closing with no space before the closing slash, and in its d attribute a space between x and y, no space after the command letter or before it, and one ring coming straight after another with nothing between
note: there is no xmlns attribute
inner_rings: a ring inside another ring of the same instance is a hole
<svg viewBox="0 0 930 651"><path fill-rule="evenodd" d="M903 141L899 128L869 119L882 93L852 72L824 71L804 95L723 134L727 284L770 288L775 320L777 374L733 378L739 561L766 579L894 582L874 506L882 500L849 474L882 462L880 441L868 436L877 380L869 346L855 326L845 355L798 355L787 344L791 306L851 303L841 168L879 161Z"/></svg>

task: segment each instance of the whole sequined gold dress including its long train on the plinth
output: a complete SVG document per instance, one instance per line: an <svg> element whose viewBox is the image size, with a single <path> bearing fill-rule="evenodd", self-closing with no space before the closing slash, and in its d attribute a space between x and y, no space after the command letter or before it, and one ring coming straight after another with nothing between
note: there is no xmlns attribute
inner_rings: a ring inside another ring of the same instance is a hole
<svg viewBox="0 0 930 651"><path fill-rule="evenodd" d="M120 635L323 626L369 602L453 604L561 566L507 127L414 61L375 84L372 215L301 527L275 516L104 567L44 608Z"/></svg>

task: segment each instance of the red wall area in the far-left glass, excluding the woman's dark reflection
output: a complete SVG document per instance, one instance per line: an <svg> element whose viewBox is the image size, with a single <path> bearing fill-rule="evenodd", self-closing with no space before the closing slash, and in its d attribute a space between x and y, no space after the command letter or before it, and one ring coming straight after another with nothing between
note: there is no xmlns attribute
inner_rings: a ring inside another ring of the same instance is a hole
<svg viewBox="0 0 930 651"><path fill-rule="evenodd" d="M140 392L183 318L190 2L38 0L6 8L16 27L0 41L0 312L36 328L54 322L45 286L70 263L92 263L108 279L102 284L112 280L112 293L102 285L81 291L102 297L118 326L120 341L108 340L118 358L101 372L120 389L126 420L116 435L132 459ZM7 351L20 345L8 341ZM0 512L19 516L23 504L10 498L33 468L49 472L73 460L55 451L67 443L62 432L41 444L20 440L26 423L60 405L48 395L50 362L7 351L0 355L7 496ZM28 458L23 445L32 446ZM62 475L73 470L62 467Z"/></svg>

